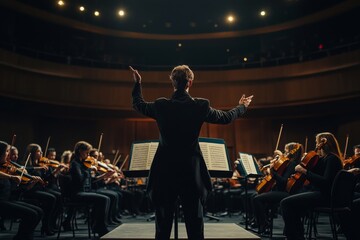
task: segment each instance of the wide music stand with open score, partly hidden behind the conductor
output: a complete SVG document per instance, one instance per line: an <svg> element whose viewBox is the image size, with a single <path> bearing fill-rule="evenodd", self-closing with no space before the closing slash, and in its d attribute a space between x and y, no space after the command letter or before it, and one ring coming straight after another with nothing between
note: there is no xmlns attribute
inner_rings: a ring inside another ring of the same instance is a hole
<svg viewBox="0 0 360 240"><path fill-rule="evenodd" d="M158 145L158 140L133 142L129 170L124 171L124 175L126 177L147 177ZM223 139L199 138L199 145L211 177L229 178L232 176L229 154ZM179 199L176 202L174 214L174 239L178 239L178 214ZM208 217L215 219L213 216Z"/></svg>

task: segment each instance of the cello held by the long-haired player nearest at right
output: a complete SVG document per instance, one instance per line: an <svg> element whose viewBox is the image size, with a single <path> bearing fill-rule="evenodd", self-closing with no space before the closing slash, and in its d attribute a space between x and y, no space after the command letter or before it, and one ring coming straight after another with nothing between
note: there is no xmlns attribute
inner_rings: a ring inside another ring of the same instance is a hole
<svg viewBox="0 0 360 240"><path fill-rule="evenodd" d="M322 138L321 142L316 146L315 150L310 151L304 155L301 159L300 165L307 169L313 169L319 161L319 155L317 153L326 143L326 138ZM306 182L306 176L303 173L297 172L288 179L286 184L286 191L290 194L297 192Z"/></svg>

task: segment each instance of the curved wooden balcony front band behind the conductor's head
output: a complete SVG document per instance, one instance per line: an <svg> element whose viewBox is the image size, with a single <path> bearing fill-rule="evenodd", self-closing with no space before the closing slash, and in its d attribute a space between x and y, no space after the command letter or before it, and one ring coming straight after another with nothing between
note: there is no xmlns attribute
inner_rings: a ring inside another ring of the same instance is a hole
<svg viewBox="0 0 360 240"><path fill-rule="evenodd" d="M170 69L169 69L170 71ZM169 72L142 72L148 101L169 97ZM271 68L195 71L193 96L222 109L241 94L254 108L326 102L360 95L360 51ZM0 95L96 109L131 110L132 75L126 70L81 68L29 59L0 50Z"/></svg>

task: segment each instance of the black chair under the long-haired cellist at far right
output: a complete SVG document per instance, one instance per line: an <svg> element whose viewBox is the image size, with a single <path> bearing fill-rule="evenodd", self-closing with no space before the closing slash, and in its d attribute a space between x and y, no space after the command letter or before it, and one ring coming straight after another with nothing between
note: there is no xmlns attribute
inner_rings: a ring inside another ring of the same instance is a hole
<svg viewBox="0 0 360 240"><path fill-rule="evenodd" d="M316 219L319 214L329 215L331 232L333 239L337 238L336 231L336 215L344 214L351 211L351 203L354 194L355 177L352 173L346 170L341 170L336 175L332 188L330 206L328 207L316 207L310 214L309 219L309 239L311 239L312 228L314 228L315 237L317 234Z"/></svg>

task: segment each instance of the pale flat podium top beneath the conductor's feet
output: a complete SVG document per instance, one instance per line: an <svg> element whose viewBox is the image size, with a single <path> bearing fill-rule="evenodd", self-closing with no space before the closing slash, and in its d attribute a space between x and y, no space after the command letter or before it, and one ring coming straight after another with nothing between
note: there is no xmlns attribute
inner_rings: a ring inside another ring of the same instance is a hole
<svg viewBox="0 0 360 240"><path fill-rule="evenodd" d="M205 223L205 239L260 239L235 223ZM125 223L101 237L103 240L148 240L155 238L154 223ZM174 227L171 233L174 239ZM184 223L179 223L179 238L187 239Z"/></svg>

